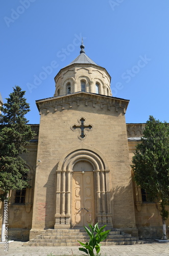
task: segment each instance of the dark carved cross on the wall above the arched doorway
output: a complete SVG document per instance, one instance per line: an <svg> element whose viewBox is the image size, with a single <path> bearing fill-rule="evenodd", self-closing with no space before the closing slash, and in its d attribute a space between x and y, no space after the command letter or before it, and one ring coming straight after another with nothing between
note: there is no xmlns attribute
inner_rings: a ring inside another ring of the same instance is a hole
<svg viewBox="0 0 169 256"><path fill-rule="evenodd" d="M92 124L85 124L86 118L85 117L81 117L80 119L78 119L79 124L74 124L71 125L71 130L76 131L77 129L80 131L80 135L78 136L79 139L83 140L86 138L86 134L85 131L91 131L93 128Z"/></svg>

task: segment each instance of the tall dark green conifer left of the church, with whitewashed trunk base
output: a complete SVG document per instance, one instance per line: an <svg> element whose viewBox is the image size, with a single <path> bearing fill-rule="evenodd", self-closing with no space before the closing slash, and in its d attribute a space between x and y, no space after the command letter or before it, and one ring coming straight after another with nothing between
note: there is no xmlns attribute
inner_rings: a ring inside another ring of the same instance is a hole
<svg viewBox="0 0 169 256"><path fill-rule="evenodd" d="M16 86L7 98L7 103L0 106L0 200L9 200L9 191L28 186L28 179L22 179L28 169L21 158L27 153L26 146L34 137L25 115L30 111L29 104L23 97L25 91ZM3 215L3 226L5 219ZM2 228L2 241L4 233Z"/></svg>

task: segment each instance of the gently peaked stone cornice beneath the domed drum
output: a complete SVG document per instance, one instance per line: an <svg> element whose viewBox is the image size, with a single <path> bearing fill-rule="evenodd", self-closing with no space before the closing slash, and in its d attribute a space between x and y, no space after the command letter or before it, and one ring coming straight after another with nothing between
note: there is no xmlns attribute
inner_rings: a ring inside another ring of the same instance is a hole
<svg viewBox="0 0 169 256"><path fill-rule="evenodd" d="M113 107L113 111L115 108L115 112L122 112L123 110L123 112L126 113L129 100L93 93L79 92L37 100L36 104L39 110L39 114L41 114L42 110L45 110L46 113L53 113L58 111L58 107L62 110L71 109L73 108L73 104L80 106L81 104L84 105L85 103L85 106L88 106L89 104L91 105L91 102L93 108L95 108L97 104L97 107L99 105L100 109L105 109L106 107L108 111L111 111Z"/></svg>

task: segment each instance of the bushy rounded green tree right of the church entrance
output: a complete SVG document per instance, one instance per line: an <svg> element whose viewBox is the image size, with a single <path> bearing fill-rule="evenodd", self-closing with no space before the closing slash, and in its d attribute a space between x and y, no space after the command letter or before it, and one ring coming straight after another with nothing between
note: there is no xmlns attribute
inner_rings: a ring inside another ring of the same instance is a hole
<svg viewBox="0 0 169 256"><path fill-rule="evenodd" d="M153 201L160 202L163 239L169 204L169 126L150 116L132 160L134 179Z"/></svg>

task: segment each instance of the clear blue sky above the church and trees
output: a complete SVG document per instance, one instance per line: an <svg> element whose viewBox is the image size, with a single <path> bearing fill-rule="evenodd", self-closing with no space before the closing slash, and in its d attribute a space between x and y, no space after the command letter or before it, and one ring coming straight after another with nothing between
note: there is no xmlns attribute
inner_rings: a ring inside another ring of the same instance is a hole
<svg viewBox="0 0 169 256"><path fill-rule="evenodd" d="M4 102L15 85L26 91L30 123L39 123L35 100L54 95L54 77L79 55L82 36L113 96L130 100L127 123L169 122L168 0L2 0L0 13L0 91Z"/></svg>

